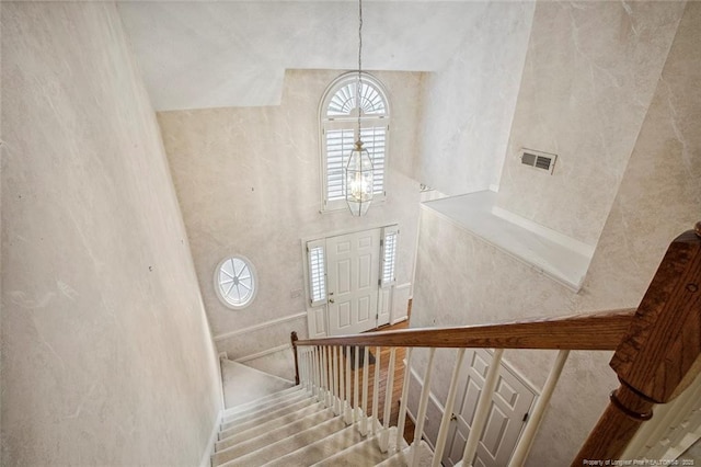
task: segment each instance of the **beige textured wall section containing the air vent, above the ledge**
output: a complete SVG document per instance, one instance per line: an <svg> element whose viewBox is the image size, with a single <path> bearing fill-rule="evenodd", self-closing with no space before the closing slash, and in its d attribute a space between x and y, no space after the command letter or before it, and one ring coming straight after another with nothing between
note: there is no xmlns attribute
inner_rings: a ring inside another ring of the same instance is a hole
<svg viewBox="0 0 701 467"><path fill-rule="evenodd" d="M596 246L682 10L537 4L498 206ZM522 166L524 147L559 155L554 173Z"/></svg>

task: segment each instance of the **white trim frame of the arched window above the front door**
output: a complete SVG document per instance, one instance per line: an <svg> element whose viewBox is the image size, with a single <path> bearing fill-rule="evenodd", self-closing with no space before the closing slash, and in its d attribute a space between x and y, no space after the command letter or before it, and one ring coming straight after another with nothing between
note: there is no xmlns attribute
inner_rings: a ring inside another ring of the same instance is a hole
<svg viewBox="0 0 701 467"><path fill-rule="evenodd" d="M333 213L341 209L346 209L347 205L345 200L332 200L327 201L327 175L326 175L326 130L335 128L348 128L353 129L354 135L357 128L357 113L355 116L334 116L327 117L326 110L329 103L335 93L348 82L357 80L357 71L350 71L336 78L324 92L324 95L319 105L319 123L320 123L320 176L321 176L321 213ZM387 197L388 189L388 173L389 173L389 153L390 153L390 102L388 99L387 90L384 86L374 76L363 72L363 79L371 82L372 86L379 91L386 107L384 115L381 116L368 116L363 117L360 122L360 128L379 127L379 123L386 126L384 136L384 160L383 160L383 176L382 176L382 192L376 192L372 198L372 203L381 203ZM349 124L353 124L352 126ZM355 139L355 137L354 137Z"/></svg>

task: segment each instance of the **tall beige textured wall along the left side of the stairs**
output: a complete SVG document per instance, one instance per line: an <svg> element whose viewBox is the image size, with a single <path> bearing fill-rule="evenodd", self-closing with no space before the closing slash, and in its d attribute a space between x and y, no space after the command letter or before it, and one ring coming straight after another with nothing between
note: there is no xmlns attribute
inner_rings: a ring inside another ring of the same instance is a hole
<svg viewBox="0 0 701 467"><path fill-rule="evenodd" d="M1 8L1 464L198 465L218 362L116 8Z"/></svg>

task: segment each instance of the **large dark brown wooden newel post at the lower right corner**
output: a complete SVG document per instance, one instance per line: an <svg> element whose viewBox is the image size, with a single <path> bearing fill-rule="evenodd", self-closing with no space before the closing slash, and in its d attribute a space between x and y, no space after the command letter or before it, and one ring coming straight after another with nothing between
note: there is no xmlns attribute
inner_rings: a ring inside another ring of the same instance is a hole
<svg viewBox="0 0 701 467"><path fill-rule="evenodd" d="M666 403L701 371L701 223L677 237L616 350L620 387L572 466L618 459L655 403Z"/></svg>

